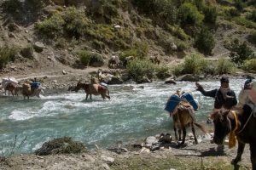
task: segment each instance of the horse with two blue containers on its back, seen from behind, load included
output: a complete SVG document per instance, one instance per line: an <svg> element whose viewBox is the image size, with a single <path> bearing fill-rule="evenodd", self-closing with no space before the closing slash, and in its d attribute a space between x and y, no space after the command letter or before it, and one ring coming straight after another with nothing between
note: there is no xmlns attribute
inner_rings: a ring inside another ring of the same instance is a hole
<svg viewBox="0 0 256 170"><path fill-rule="evenodd" d="M181 140L181 133L183 132L182 143L185 143L186 138L186 125L190 125L192 128L192 133L194 135L195 144L198 144L195 127L199 127L202 132L207 133L205 127L201 124L195 122L195 111L198 109L198 105L195 102L192 94L184 93L172 94L166 103L165 110L170 113L173 119L173 130L175 133L175 139L177 140L177 128L178 128L178 140Z"/></svg>

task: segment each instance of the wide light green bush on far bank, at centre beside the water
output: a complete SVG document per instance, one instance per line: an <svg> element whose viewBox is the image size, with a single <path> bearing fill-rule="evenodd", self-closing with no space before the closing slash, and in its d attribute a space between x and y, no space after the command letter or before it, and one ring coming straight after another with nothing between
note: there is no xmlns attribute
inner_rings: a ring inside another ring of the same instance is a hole
<svg viewBox="0 0 256 170"><path fill-rule="evenodd" d="M146 59L135 59L128 63L127 72L134 81L141 82L143 77L154 78L155 66Z"/></svg>

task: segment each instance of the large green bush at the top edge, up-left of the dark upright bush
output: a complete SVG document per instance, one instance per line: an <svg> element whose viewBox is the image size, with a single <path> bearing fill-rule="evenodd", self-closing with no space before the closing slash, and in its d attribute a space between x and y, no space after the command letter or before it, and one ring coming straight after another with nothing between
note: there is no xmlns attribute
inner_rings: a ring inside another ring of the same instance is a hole
<svg viewBox="0 0 256 170"><path fill-rule="evenodd" d="M181 26L199 26L204 19L204 15L192 3L183 3L179 8L178 16Z"/></svg>

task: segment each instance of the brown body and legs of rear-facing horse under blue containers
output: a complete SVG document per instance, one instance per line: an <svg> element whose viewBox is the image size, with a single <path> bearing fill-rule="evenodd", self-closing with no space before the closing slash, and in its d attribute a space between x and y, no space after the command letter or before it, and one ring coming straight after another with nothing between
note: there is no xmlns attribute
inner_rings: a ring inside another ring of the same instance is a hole
<svg viewBox="0 0 256 170"><path fill-rule="evenodd" d="M189 103L182 102L177 106L176 111L172 114L173 119L173 130L175 133L175 139L177 140L177 128L178 128L178 140L181 140L181 130L183 130L183 140L181 144L185 143L186 138L186 125L190 125L192 133L194 135L195 144L198 144L197 138L195 136L195 127L199 127L202 132L207 133L205 127L201 124L195 122L195 112L193 107Z"/></svg>

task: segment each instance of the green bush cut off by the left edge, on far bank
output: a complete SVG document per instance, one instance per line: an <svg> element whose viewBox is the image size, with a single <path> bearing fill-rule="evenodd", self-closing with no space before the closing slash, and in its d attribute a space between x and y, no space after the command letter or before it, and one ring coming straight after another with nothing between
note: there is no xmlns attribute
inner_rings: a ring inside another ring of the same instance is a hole
<svg viewBox="0 0 256 170"><path fill-rule="evenodd" d="M3 69L10 61L14 61L16 54L16 48L0 47L0 69Z"/></svg>

